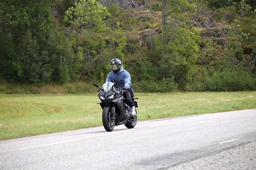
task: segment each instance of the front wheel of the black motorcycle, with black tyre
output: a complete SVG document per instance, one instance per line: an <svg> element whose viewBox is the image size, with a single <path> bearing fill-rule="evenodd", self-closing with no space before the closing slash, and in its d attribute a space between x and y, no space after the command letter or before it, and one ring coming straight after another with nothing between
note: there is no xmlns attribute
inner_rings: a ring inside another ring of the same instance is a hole
<svg viewBox="0 0 256 170"><path fill-rule="evenodd" d="M104 107L102 111L102 123L108 132L114 130L116 121L115 119L111 119L111 107Z"/></svg>

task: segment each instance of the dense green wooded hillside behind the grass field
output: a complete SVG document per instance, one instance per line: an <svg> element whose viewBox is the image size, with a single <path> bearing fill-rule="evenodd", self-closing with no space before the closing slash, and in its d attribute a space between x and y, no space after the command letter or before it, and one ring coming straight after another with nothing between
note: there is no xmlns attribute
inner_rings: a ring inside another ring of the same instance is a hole
<svg viewBox="0 0 256 170"><path fill-rule="evenodd" d="M141 15L96 0L1 1L0 80L102 84L119 58L138 91L256 90L256 2L147 5ZM220 35L200 37L211 17Z"/></svg>

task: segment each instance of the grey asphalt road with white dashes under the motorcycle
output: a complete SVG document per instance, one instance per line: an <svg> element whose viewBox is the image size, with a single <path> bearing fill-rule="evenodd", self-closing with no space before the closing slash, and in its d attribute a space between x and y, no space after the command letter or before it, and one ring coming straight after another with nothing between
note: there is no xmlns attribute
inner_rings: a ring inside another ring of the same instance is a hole
<svg viewBox="0 0 256 170"><path fill-rule="evenodd" d="M0 169L256 169L256 109L0 141Z"/></svg>

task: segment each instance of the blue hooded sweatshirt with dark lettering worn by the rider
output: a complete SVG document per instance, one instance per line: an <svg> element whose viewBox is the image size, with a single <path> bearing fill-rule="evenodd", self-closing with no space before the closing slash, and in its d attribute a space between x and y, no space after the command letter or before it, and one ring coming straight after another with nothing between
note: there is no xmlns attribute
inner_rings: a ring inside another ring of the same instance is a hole
<svg viewBox="0 0 256 170"><path fill-rule="evenodd" d="M119 83L115 86L116 88L126 87L129 89L132 86L131 76L128 71L124 70L123 66L121 66L118 73L114 73L113 71L108 73L106 78L106 82L110 81L115 83L117 80L119 80Z"/></svg>

